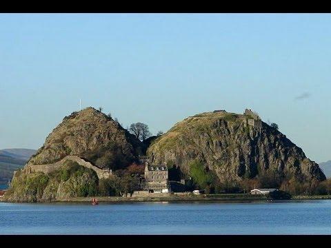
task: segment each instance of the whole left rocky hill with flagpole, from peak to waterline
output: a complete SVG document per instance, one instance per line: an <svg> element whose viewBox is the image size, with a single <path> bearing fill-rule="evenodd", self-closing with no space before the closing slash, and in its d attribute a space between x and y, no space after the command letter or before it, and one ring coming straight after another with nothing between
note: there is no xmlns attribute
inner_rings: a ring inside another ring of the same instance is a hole
<svg viewBox="0 0 331 248"><path fill-rule="evenodd" d="M3 199L37 202L101 194L105 182L99 168L125 169L144 150L146 145L106 114L92 107L73 112L14 174ZM116 182L116 176L112 177ZM108 195L114 189L111 185L106 188Z"/></svg>

